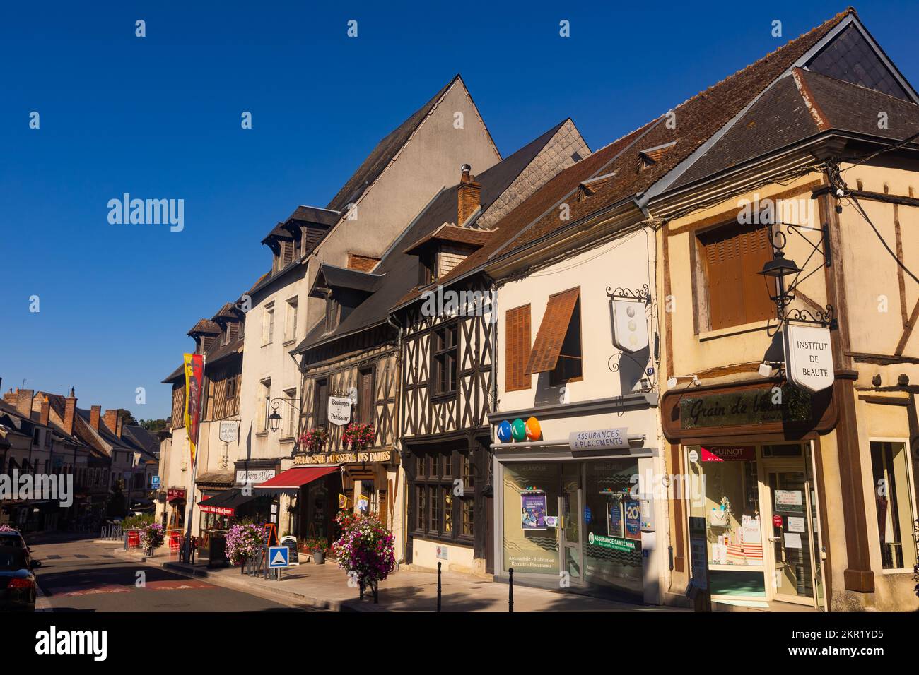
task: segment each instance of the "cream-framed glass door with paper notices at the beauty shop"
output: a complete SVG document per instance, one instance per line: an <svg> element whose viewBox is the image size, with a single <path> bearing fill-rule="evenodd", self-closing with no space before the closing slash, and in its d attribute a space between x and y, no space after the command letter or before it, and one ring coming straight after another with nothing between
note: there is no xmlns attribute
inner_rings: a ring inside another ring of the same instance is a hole
<svg viewBox="0 0 919 675"><path fill-rule="evenodd" d="M767 569L773 572L766 586L775 600L816 607L810 481L803 471L784 468L767 469L766 479L771 510L766 519L771 533Z"/></svg>

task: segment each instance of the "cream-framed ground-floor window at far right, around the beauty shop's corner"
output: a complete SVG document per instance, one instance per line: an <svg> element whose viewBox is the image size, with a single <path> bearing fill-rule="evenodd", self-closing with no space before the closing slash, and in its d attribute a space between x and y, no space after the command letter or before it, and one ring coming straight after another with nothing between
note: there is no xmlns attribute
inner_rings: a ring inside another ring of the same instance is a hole
<svg viewBox="0 0 919 675"><path fill-rule="evenodd" d="M880 560L884 569L912 569L916 564L913 500L905 443L871 441Z"/></svg>

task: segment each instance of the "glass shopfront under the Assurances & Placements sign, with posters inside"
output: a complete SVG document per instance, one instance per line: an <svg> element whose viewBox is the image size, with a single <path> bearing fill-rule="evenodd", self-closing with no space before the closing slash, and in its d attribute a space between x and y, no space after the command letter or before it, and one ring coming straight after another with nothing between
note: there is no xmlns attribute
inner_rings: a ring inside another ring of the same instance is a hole
<svg viewBox="0 0 919 675"><path fill-rule="evenodd" d="M503 464L503 565L641 593L638 458Z"/></svg>

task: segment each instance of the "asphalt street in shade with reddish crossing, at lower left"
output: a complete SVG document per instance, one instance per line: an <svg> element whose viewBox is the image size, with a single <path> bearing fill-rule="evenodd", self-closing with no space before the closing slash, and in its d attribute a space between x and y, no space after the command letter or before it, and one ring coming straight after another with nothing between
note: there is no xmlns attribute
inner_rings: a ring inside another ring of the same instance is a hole
<svg viewBox="0 0 919 675"><path fill-rule="evenodd" d="M53 612L297 612L278 602L187 579L112 555L115 544L78 535L27 537L41 591ZM139 572L142 575L139 575ZM142 586L138 585L142 579ZM41 609L45 602L40 602Z"/></svg>

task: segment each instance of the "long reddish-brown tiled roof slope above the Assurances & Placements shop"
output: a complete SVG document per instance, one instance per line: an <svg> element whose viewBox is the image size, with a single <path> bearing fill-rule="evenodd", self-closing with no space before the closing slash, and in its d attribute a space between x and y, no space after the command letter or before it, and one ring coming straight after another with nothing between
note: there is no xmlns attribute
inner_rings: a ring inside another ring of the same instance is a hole
<svg viewBox="0 0 919 675"><path fill-rule="evenodd" d="M670 112L675 116L675 124L666 124L666 115L655 118L640 129L632 131L558 174L497 223L497 232L491 242L472 253L448 275L439 279L438 283L447 284L469 275L497 255L510 253L517 246L533 242L558 230L562 225L576 222L601 208L641 195L709 141L754 97L775 82L782 73L788 71L850 14L854 15L855 10L849 8L830 18L759 61L674 107ZM658 148L672 141L676 141L675 144L669 151L661 154L656 163L652 163L643 171L638 171L641 150ZM578 183L603 174L615 174L615 179L601 182L596 186L596 192L584 195L584 198L568 199ZM562 200L566 200L565 203L570 208L570 219L567 221L559 219L555 208ZM422 291L422 288L415 288L403 298L399 306L420 298Z"/></svg>

